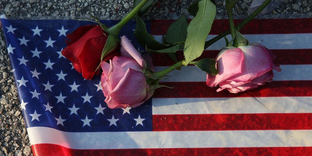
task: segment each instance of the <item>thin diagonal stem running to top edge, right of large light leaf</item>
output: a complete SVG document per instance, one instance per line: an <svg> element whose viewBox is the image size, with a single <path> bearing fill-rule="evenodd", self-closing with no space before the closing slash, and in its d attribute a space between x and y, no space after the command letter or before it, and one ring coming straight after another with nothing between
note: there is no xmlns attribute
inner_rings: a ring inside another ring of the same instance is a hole
<svg viewBox="0 0 312 156"><path fill-rule="evenodd" d="M241 23L239 23L236 28L242 28L247 23L249 23L256 15L258 15L272 0L265 0L254 12L252 12L246 19L244 19ZM228 30L211 40L205 42L205 49L211 46L213 43L217 42L218 40L222 39L225 35L230 34L231 31Z"/></svg>

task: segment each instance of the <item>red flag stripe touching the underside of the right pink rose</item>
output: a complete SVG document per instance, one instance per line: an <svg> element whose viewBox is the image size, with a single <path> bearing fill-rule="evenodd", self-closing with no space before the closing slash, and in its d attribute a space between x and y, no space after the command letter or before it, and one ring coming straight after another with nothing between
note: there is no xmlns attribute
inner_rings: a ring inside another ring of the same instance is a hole
<svg viewBox="0 0 312 156"><path fill-rule="evenodd" d="M206 82L160 82L153 98L166 97L273 97L273 96L312 96L312 80L272 81L248 91L229 93L228 90L216 92L217 88Z"/></svg>

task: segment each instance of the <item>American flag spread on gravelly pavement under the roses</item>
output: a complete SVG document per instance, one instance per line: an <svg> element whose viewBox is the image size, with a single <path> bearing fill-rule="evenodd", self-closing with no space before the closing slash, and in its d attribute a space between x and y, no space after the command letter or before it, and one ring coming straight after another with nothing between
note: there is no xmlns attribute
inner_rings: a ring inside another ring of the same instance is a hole
<svg viewBox="0 0 312 156"><path fill-rule="evenodd" d="M257 19L241 30L277 56L282 72L271 83L216 93L204 72L187 66L161 81L173 88L126 109L109 109L100 77L83 79L61 55L66 34L92 23L1 22L34 155L312 155L312 18ZM147 21L147 29L160 41L171 22ZM226 30L224 23L215 20L209 38ZM134 28L130 22L121 35L138 46ZM204 57L224 45L215 43ZM173 64L158 54L153 61L158 71Z"/></svg>

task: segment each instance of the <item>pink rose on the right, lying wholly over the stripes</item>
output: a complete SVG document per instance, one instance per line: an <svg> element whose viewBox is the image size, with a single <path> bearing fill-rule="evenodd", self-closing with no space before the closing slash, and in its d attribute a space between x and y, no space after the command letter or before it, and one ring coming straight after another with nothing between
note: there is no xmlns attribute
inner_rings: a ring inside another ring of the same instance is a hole
<svg viewBox="0 0 312 156"><path fill-rule="evenodd" d="M238 48L224 49L216 58L219 74L207 75L207 85L227 89L232 93L249 90L271 82L272 69L281 71L279 65L274 65L276 57L273 53L258 43Z"/></svg>

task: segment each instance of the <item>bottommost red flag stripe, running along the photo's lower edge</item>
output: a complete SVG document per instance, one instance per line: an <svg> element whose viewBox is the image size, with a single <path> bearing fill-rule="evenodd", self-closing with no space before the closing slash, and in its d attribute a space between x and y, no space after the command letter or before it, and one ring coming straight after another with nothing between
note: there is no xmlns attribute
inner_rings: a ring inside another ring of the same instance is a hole
<svg viewBox="0 0 312 156"><path fill-rule="evenodd" d="M32 145L34 156L311 156L312 147L257 148L176 148L176 149L116 149L76 150L54 144Z"/></svg>

